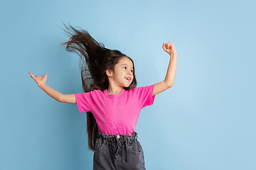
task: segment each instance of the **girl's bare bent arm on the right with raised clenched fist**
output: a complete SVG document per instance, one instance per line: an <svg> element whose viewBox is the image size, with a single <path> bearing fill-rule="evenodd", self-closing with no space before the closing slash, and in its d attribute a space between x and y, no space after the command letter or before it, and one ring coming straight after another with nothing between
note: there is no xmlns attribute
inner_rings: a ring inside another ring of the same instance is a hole
<svg viewBox="0 0 256 170"><path fill-rule="evenodd" d="M163 43L163 49L170 55L170 62L166 73L166 78L157 84L154 84L154 91L152 96L166 91L174 86L174 79L176 75L177 52L173 42Z"/></svg>

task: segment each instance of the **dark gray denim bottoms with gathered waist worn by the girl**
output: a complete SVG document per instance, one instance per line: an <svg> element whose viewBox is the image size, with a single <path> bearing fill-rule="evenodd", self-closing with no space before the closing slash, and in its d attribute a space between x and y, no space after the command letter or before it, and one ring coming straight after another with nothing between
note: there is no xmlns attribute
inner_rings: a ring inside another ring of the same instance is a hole
<svg viewBox="0 0 256 170"><path fill-rule="evenodd" d="M93 155L93 169L146 169L144 152L132 135L107 135L98 131Z"/></svg>

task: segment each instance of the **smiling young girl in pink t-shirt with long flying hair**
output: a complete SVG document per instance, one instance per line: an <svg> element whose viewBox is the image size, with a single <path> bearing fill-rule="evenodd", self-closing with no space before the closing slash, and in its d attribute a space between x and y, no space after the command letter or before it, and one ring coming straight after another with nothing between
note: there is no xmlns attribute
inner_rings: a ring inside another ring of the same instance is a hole
<svg viewBox="0 0 256 170"><path fill-rule="evenodd" d="M170 55L164 81L137 87L134 62L130 57L105 48L86 30L70 28L75 33L68 33L70 40L62 44L85 60L86 64L80 67L85 93L61 94L46 85L48 74L38 77L28 73L56 101L77 104L80 113L87 112L88 147L94 152L93 169L145 169L144 152L134 130L142 108L151 106L156 94L174 85L177 60L174 43L162 46Z"/></svg>

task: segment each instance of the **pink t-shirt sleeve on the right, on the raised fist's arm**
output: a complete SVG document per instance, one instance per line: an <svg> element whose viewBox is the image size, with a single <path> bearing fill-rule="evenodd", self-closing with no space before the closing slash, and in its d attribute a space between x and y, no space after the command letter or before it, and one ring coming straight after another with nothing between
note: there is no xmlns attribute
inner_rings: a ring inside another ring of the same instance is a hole
<svg viewBox="0 0 256 170"><path fill-rule="evenodd" d="M139 103L141 108L150 106L154 103L155 96L152 96L154 90L154 84L151 86L137 87L137 96L139 97Z"/></svg>

